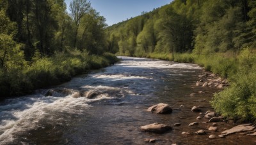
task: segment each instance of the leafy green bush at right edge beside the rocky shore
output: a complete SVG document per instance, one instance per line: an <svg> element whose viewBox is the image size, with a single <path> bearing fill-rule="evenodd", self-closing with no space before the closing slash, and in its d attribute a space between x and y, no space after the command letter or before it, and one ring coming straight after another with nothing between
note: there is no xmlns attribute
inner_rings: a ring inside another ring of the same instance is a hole
<svg viewBox="0 0 256 145"><path fill-rule="evenodd" d="M248 49L239 55L239 68L230 79L232 83L214 95L212 106L219 113L241 121L256 119L256 57Z"/></svg>

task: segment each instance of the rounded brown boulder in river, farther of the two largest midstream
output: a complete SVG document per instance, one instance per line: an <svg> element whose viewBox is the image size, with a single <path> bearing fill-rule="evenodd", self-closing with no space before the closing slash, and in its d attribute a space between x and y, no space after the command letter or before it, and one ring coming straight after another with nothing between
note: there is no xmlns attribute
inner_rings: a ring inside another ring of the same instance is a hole
<svg viewBox="0 0 256 145"><path fill-rule="evenodd" d="M168 106L168 104L159 103L157 105L149 107L147 111L157 114L168 114L172 113L172 108Z"/></svg>

